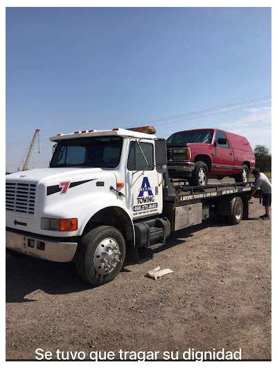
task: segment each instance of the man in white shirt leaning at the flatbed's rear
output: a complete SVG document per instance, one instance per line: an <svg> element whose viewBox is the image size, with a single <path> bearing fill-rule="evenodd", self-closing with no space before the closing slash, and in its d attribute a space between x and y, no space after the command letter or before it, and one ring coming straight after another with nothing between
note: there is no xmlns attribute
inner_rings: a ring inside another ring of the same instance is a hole
<svg viewBox="0 0 277 369"><path fill-rule="evenodd" d="M258 187L262 191L262 206L265 206L265 214L261 215L260 218L262 219L269 219L269 208L271 206L271 183L269 182L267 176L263 173L260 173L258 169L254 169L252 172L253 176L255 177L254 188L249 197L253 197Z"/></svg>

